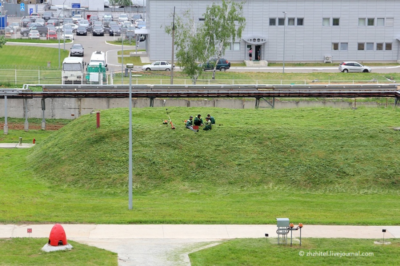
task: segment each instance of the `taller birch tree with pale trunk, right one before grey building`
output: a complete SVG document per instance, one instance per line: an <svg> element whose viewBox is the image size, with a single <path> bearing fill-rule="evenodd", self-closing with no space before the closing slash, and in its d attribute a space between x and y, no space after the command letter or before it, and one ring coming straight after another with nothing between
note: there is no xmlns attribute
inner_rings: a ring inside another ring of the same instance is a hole
<svg viewBox="0 0 400 266"><path fill-rule="evenodd" d="M241 38L246 23L243 16L243 3L222 0L221 5L213 2L205 11L205 35L210 40L213 56L217 58L216 62L225 53L225 48L230 42ZM215 66L212 79L215 79Z"/></svg>

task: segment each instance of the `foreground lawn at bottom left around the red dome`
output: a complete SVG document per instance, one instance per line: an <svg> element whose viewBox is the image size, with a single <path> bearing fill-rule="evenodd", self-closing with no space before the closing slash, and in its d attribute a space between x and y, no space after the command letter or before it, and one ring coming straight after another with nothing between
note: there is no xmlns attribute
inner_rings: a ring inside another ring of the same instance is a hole
<svg viewBox="0 0 400 266"><path fill-rule="evenodd" d="M117 266L117 254L69 241L69 251L43 252L44 238L0 239L1 266Z"/></svg>

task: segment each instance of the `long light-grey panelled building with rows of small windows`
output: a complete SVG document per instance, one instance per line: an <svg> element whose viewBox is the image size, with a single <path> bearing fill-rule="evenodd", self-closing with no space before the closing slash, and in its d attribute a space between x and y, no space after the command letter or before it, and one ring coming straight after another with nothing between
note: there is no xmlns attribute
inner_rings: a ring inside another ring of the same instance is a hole
<svg viewBox="0 0 400 266"><path fill-rule="evenodd" d="M171 59L171 14L190 9L198 23L212 0L146 0L146 49L150 60ZM217 1L216 1L217 2ZM246 26L223 55L248 60L260 49L269 62L399 60L400 0L245 0ZM283 43L284 49L283 49Z"/></svg>

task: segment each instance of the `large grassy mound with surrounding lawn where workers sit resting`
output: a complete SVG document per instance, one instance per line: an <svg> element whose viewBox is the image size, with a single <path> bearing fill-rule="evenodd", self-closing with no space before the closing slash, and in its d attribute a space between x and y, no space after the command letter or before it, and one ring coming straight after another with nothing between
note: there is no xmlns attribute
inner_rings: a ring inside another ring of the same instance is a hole
<svg viewBox="0 0 400 266"><path fill-rule="evenodd" d="M0 150L0 222L400 224L398 108L168 110L175 130L132 110L133 210L128 109L109 109ZM197 113L211 131L185 129Z"/></svg>

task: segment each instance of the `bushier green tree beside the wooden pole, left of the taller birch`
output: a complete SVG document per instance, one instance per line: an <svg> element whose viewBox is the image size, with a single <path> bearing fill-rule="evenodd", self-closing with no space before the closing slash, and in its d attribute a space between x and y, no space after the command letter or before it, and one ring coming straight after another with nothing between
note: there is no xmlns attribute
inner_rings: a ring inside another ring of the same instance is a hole
<svg viewBox="0 0 400 266"><path fill-rule="evenodd" d="M173 23L165 26L165 32L172 35L172 27ZM212 54L209 37L205 35L202 23L193 19L190 10L184 11L180 16L175 15L174 29L177 64L181 71L192 79L192 83L196 84L203 71L198 62L205 62Z"/></svg>

